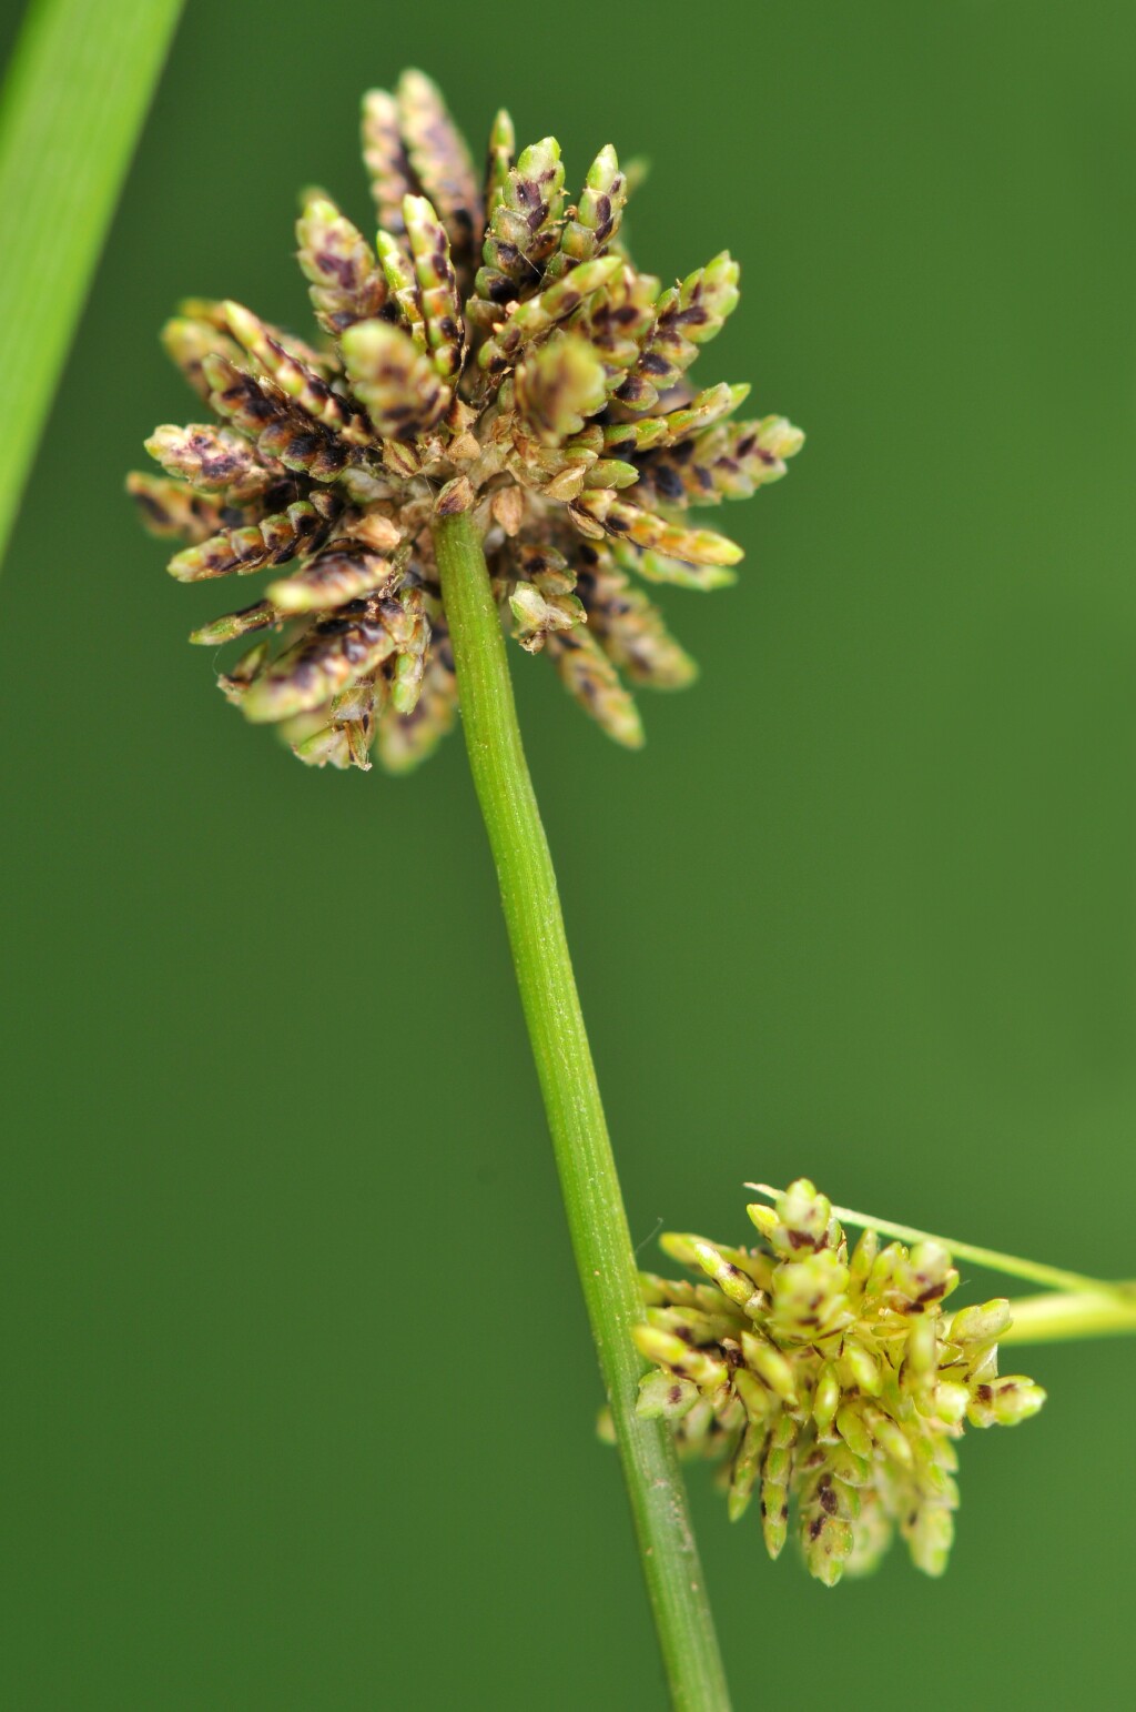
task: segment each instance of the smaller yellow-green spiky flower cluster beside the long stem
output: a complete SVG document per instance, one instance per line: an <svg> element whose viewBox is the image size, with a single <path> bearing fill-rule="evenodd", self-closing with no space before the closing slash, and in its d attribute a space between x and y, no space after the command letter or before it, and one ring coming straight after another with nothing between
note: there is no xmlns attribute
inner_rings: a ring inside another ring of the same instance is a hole
<svg viewBox="0 0 1136 1712"><path fill-rule="evenodd" d="M826 1587L876 1568L898 1532L927 1575L946 1568L963 1423L1015 1426L1045 1392L997 1373L1009 1303L946 1313L958 1284L936 1241L867 1229L849 1253L830 1202L804 1178L753 1205L756 1248L667 1234L698 1282L643 1274L636 1342L657 1370L638 1412L672 1423L679 1450L724 1459L729 1513L754 1491L777 1558L796 1507L808 1568Z"/></svg>

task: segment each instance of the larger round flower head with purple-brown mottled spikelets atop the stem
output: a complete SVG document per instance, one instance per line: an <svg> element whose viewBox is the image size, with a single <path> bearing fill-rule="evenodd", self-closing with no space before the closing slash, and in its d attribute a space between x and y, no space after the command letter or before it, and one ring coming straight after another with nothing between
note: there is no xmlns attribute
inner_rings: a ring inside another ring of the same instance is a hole
<svg viewBox="0 0 1136 1712"><path fill-rule="evenodd" d="M623 680L679 688L695 664L631 577L731 582L741 550L689 507L751 495L802 440L780 416L736 421L746 387L686 378L737 264L666 291L640 274L609 146L568 205L556 139L515 154L500 113L481 181L421 72L364 98L363 154L375 247L323 193L296 228L317 344L240 303L185 303L164 329L219 425L157 428L164 474L128 488L188 543L180 580L274 574L190 640L250 639L221 688L303 760L366 769L376 746L414 765L457 709L431 526L469 510L503 621L636 746Z"/></svg>

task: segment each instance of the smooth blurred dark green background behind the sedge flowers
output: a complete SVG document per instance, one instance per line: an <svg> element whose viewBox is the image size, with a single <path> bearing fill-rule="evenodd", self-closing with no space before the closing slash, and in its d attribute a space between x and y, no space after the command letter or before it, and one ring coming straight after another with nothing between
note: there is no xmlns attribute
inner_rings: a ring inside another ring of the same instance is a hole
<svg viewBox="0 0 1136 1712"><path fill-rule="evenodd" d="M703 383L809 433L642 755L513 652L645 1258L808 1171L1136 1272L1131 3L192 0L0 587L14 1712L664 1703L462 746L298 767L121 496L163 317L305 324L404 63L477 152L647 152L640 264L743 262ZM1131 1703L1136 1349L1018 1361L941 1584L693 1472L739 1709Z"/></svg>

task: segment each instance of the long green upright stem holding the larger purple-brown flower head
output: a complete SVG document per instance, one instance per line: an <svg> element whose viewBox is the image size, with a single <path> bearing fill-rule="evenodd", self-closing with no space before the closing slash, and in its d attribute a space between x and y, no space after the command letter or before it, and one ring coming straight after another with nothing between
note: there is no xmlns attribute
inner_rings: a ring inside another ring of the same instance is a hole
<svg viewBox="0 0 1136 1712"><path fill-rule="evenodd" d="M631 1498L659 1644L681 1712L727 1712L698 1548L671 1433L635 1414L643 1318L616 1161L571 972L556 875L517 724L505 637L469 517L440 519L438 570L465 746L501 887L517 984L541 1079L592 1335Z"/></svg>

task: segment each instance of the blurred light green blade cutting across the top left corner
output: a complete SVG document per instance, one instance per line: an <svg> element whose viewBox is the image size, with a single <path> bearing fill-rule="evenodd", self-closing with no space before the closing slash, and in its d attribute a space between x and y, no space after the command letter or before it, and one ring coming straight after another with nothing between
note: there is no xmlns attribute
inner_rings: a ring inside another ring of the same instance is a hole
<svg viewBox="0 0 1136 1712"><path fill-rule="evenodd" d="M0 558L181 0L34 0L0 94Z"/></svg>

